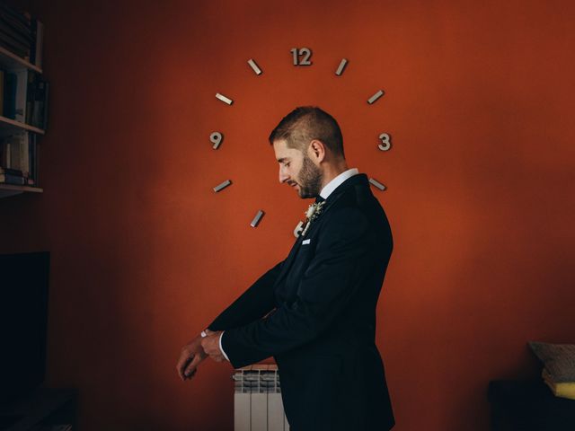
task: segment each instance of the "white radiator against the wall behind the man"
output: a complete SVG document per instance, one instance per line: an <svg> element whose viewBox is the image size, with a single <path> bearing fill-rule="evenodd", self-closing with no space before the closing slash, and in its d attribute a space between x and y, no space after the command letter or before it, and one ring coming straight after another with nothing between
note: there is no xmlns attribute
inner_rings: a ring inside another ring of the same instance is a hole
<svg viewBox="0 0 575 431"><path fill-rule="evenodd" d="M278 365L249 365L234 372L234 431L288 431Z"/></svg>

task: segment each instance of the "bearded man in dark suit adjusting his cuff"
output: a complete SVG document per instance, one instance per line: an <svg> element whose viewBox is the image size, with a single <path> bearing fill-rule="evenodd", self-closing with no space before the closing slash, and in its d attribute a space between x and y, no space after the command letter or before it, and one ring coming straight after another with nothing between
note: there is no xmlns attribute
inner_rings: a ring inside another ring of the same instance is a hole
<svg viewBox="0 0 575 431"><path fill-rule="evenodd" d="M365 174L348 169L327 112L297 108L270 144L279 180L316 198L288 258L181 350L182 380L205 357L235 367L274 356L293 431L389 430L394 415L375 344L376 303L393 249Z"/></svg>

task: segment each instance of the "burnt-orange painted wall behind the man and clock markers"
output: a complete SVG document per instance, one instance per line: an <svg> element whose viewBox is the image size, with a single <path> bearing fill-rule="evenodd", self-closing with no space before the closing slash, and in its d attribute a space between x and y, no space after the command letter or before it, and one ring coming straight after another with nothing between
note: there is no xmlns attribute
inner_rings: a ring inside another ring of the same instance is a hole
<svg viewBox="0 0 575 431"><path fill-rule="evenodd" d="M288 253L307 202L266 137L296 105L332 112L389 188L397 431L487 429L487 383L536 377L526 341L575 341L572 2L20 4L46 24L45 192L0 200L0 251L52 252L48 383L80 389L83 430L232 428L230 365L174 365Z"/></svg>

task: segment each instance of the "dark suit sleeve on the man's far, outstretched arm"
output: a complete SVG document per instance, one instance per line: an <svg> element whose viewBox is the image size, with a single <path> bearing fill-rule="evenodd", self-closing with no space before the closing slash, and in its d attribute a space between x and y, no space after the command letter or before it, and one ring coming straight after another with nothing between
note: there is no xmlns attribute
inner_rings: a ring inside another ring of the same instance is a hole
<svg viewBox="0 0 575 431"><path fill-rule="evenodd" d="M253 283L234 303L208 325L208 330L229 330L261 319L276 306L273 284L279 276L283 261Z"/></svg>

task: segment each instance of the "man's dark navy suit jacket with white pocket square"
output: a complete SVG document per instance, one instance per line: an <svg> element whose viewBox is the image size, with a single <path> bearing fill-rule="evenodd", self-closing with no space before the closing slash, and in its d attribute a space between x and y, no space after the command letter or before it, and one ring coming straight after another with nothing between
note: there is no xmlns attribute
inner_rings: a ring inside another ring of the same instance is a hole
<svg viewBox="0 0 575 431"><path fill-rule="evenodd" d="M305 242L305 243L304 243ZM288 258L209 326L234 367L274 356L293 431L388 430L394 415L375 344L392 233L367 176L345 180Z"/></svg>

